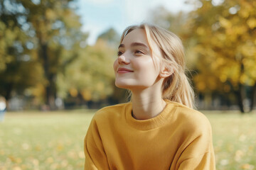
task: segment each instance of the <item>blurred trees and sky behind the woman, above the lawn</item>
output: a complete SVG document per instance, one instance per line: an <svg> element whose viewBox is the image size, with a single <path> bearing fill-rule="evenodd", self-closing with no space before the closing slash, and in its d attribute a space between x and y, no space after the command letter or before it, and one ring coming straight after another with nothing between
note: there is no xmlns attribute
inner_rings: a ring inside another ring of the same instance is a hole
<svg viewBox="0 0 256 170"><path fill-rule="evenodd" d="M183 40L198 108L252 111L255 3L1 0L0 95L9 111L124 102L112 70L119 38L149 22Z"/></svg>

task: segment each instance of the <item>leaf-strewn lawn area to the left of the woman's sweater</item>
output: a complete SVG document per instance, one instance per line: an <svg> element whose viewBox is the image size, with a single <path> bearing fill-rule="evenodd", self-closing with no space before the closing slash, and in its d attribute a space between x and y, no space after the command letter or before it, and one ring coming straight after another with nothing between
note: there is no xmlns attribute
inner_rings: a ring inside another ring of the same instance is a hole
<svg viewBox="0 0 256 170"><path fill-rule="evenodd" d="M83 169L93 112L7 113L0 123L0 170Z"/></svg>

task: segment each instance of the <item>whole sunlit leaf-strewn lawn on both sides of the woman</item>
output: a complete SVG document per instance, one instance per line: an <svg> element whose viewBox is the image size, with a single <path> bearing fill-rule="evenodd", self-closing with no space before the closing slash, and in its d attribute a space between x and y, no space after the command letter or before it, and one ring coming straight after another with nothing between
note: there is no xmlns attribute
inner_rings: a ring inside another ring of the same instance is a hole
<svg viewBox="0 0 256 170"><path fill-rule="evenodd" d="M95 111L6 113L0 170L83 169L83 139ZM208 111L216 169L256 169L256 113Z"/></svg>

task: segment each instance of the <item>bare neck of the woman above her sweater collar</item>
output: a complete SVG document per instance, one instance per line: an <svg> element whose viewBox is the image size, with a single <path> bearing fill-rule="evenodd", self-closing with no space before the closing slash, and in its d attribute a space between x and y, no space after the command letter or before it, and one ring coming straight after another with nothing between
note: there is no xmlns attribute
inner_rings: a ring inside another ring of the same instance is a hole
<svg viewBox="0 0 256 170"><path fill-rule="evenodd" d="M132 91L132 115L138 120L154 118L164 110L166 102L161 93L155 93L144 89L143 91Z"/></svg>

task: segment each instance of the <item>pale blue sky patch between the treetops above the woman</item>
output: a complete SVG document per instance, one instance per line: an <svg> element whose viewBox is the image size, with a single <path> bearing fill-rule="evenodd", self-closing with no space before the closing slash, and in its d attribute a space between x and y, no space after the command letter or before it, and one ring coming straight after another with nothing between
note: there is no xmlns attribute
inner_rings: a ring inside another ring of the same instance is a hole
<svg viewBox="0 0 256 170"><path fill-rule="evenodd" d="M93 45L97 36L108 28L122 31L134 24L149 22L150 11L164 6L172 13L191 11L185 0L78 0L82 31L89 33L88 44Z"/></svg>

